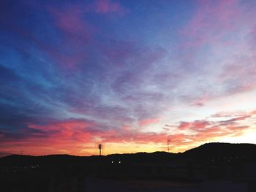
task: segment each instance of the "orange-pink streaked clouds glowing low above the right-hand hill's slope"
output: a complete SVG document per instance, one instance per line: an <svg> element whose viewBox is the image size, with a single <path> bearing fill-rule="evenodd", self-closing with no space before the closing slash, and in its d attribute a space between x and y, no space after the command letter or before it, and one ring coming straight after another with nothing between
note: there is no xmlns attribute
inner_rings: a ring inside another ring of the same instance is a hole
<svg viewBox="0 0 256 192"><path fill-rule="evenodd" d="M194 120L190 122L181 121L176 127L176 134L170 134L172 149L176 150L176 146L181 149L187 147L195 147L204 142L217 142L219 139L227 137L242 137L246 131L252 128L252 124L246 120L253 120L251 112L243 112L244 116L230 118L233 115L241 115L241 112L219 112L211 115L213 120ZM215 118L227 118L227 120L219 120ZM178 132L178 133L177 133Z"/></svg>

